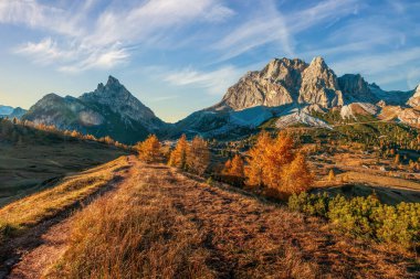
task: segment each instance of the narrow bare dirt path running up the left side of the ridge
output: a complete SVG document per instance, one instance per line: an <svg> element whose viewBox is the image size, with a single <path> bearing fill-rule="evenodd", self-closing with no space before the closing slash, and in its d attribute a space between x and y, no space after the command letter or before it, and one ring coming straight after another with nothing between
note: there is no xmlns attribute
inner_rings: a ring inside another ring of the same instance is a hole
<svg viewBox="0 0 420 279"><path fill-rule="evenodd" d="M9 244L10 256L4 261L6 270L0 273L0 279L40 278L45 267L52 265L65 251L73 213L83 210L84 206L88 206L90 203L101 196L113 194L114 190L118 189L133 174L135 161L133 157L128 157L130 169L118 171L117 180L101 187L82 202L77 202L71 208L60 213L60 215L33 227L23 236L13 239Z"/></svg>

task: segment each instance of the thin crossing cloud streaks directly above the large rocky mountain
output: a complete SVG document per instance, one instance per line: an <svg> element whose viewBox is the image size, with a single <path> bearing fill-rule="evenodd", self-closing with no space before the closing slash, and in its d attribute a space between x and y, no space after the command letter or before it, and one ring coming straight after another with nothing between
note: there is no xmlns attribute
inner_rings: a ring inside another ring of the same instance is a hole
<svg viewBox="0 0 420 279"><path fill-rule="evenodd" d="M298 11L282 13L275 1L264 2L264 9L251 21L239 25L217 42L213 47L224 54L225 61L267 43L277 43L281 52L295 56L294 36L322 23L337 21L357 13L357 0L327 0Z"/></svg>

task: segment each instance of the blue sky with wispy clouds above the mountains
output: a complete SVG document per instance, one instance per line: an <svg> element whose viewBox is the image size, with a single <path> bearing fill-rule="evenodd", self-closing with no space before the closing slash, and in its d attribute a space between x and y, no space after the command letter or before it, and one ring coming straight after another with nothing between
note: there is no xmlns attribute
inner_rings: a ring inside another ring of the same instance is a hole
<svg viewBox="0 0 420 279"><path fill-rule="evenodd" d="M384 89L420 83L417 0L0 0L0 104L80 96L113 75L166 121L274 57L323 56Z"/></svg>

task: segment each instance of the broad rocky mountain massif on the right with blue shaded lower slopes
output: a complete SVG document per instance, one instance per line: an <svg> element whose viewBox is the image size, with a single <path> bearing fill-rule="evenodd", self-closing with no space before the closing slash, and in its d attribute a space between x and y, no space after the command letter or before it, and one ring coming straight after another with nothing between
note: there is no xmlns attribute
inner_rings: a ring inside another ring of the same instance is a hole
<svg viewBox="0 0 420 279"><path fill-rule="evenodd" d="M275 58L262 71L246 73L220 103L178 121L172 135L220 137L253 129L273 117L279 118L277 128L298 122L325 128L312 111L329 110L338 110L343 118L370 115L378 119L381 111L395 111L391 119L418 127L419 105L420 86L417 90L386 92L359 74L337 77L322 57L309 64Z"/></svg>

